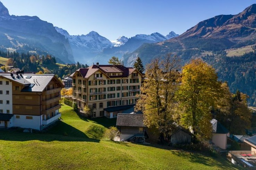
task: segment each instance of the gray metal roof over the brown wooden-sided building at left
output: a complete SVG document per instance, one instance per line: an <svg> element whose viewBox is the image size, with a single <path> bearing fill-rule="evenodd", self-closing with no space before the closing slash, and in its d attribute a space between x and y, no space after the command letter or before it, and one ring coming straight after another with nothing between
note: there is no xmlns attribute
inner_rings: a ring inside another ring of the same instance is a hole
<svg viewBox="0 0 256 170"><path fill-rule="evenodd" d="M31 78L29 78L30 76ZM31 85L24 87L22 89L22 92L42 92L44 88L52 80L54 75L53 74L24 74L23 77Z"/></svg>

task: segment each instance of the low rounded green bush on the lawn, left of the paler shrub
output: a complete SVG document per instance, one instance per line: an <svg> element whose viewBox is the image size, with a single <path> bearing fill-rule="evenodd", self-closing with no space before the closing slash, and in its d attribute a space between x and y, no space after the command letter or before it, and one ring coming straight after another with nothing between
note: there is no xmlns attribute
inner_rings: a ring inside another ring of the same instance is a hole
<svg viewBox="0 0 256 170"><path fill-rule="evenodd" d="M101 139L105 134L105 128L101 125L90 125L86 131L89 138Z"/></svg>

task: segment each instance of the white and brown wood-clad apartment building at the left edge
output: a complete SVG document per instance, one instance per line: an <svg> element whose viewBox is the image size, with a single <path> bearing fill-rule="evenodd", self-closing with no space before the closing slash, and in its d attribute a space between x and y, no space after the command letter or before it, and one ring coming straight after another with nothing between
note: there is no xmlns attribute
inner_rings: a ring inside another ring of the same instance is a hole
<svg viewBox="0 0 256 170"><path fill-rule="evenodd" d="M54 75L0 73L0 127L42 130L60 117L63 84Z"/></svg>

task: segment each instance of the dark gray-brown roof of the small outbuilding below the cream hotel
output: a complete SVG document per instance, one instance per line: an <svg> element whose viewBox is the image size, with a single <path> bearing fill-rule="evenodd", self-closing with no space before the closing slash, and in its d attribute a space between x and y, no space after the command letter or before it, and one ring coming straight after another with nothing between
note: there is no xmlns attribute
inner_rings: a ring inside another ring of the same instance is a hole
<svg viewBox="0 0 256 170"><path fill-rule="evenodd" d="M143 114L118 113L117 126L146 127L143 123Z"/></svg>

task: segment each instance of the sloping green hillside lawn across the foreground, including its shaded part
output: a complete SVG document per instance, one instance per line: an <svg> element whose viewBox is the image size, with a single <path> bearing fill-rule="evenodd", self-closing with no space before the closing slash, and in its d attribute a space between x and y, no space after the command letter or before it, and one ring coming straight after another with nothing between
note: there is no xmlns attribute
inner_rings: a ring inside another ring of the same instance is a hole
<svg viewBox="0 0 256 170"><path fill-rule="evenodd" d="M0 169L236 169L215 154L90 139L90 125L116 119L83 119L67 105L60 112L63 120L45 133L0 130Z"/></svg>

